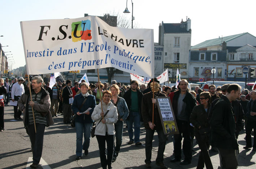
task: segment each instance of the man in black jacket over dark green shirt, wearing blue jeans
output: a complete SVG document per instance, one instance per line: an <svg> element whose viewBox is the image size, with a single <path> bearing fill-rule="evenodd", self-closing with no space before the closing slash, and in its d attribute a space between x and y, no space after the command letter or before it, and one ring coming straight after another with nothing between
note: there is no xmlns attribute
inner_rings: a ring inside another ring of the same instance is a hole
<svg viewBox="0 0 256 169"><path fill-rule="evenodd" d="M141 117L141 101L142 92L138 90L139 83L137 81L131 81L131 88L125 92L123 99L125 99L127 107L129 109L129 116L127 117L127 126L130 141L128 144L135 142L136 146L142 145L139 140L140 136L140 117ZM133 125L134 125L134 139L133 139Z"/></svg>

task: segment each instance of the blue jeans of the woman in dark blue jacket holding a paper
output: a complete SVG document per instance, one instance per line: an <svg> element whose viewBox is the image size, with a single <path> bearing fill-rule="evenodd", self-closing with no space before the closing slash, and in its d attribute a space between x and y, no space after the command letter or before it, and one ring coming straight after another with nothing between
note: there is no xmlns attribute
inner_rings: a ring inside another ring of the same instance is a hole
<svg viewBox="0 0 256 169"><path fill-rule="evenodd" d="M91 128L92 128L92 123L75 122L75 131L77 132L77 150L75 154L78 157L82 156L82 150L88 150L90 146ZM84 142L83 142L83 135L84 135Z"/></svg>

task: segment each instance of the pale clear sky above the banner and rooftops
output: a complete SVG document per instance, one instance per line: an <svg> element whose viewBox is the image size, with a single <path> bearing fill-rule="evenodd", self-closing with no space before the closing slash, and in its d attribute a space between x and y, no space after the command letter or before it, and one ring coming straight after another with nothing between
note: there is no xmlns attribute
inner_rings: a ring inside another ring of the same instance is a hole
<svg viewBox="0 0 256 169"><path fill-rule="evenodd" d="M158 42L158 27L162 23L180 23L191 19L191 46L205 40L248 32L256 36L255 0L128 0L134 23L139 28L154 29ZM24 66L25 55L20 21L81 18L84 13L103 16L113 11L123 14L126 0L0 0L0 43L13 59L13 69ZM126 15L131 19L131 13ZM11 52L8 52L11 51Z"/></svg>

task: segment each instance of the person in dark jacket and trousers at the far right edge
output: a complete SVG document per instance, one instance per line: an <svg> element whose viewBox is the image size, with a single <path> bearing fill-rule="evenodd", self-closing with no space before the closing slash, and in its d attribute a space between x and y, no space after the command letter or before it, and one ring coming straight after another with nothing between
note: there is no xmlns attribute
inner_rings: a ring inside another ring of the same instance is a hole
<svg viewBox="0 0 256 169"><path fill-rule="evenodd" d="M244 149L249 149L252 147L252 136L251 132L252 129L254 133L256 132L256 91L251 91L250 93L251 100L247 105L247 123L246 123L246 146L243 147ZM255 136L254 136L255 137ZM253 149L252 151L256 151L256 139L253 138Z"/></svg>

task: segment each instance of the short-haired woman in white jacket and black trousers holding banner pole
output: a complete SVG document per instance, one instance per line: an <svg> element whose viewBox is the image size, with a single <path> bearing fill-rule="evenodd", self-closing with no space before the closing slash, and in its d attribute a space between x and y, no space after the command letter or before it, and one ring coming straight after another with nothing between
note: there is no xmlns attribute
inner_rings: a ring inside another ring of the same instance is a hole
<svg viewBox="0 0 256 169"><path fill-rule="evenodd" d="M100 163L103 169L112 169L111 163L114 152L114 123L117 122L118 114L117 108L114 106L110 99L112 94L110 91L103 92L103 110L101 110L101 105L98 104L92 113L92 120L96 121L95 136L97 138L100 150ZM107 115L105 115L107 114ZM102 118L105 115L104 118ZM105 142L107 142L108 154L106 157L106 147Z"/></svg>

